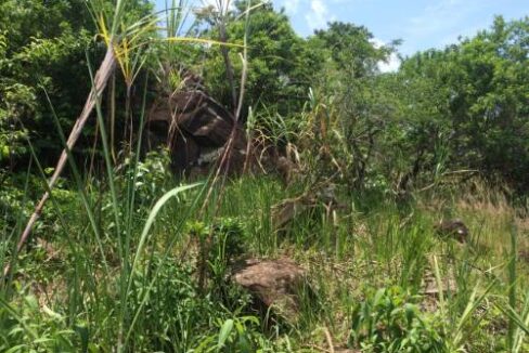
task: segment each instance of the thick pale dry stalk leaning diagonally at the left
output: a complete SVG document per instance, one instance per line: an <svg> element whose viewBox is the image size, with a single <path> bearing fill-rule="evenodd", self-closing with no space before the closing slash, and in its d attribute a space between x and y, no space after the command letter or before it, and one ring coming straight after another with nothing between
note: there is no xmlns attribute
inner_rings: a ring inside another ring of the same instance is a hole
<svg viewBox="0 0 529 353"><path fill-rule="evenodd" d="M16 253L18 253L22 250L27 239L29 238L29 235L31 234L31 230L35 223L40 218L40 214L42 213L42 209L44 208L44 204L50 198L50 192L55 186L55 183L57 182L59 176L61 175L64 166L66 165L66 160L68 159L68 151L72 151L75 143L79 139L82 128L85 127L85 123L90 117L90 114L92 113L99 96L101 95L101 93L104 91L106 87L108 78L111 77L114 70L115 64L116 64L116 58L114 56L114 50L112 45L108 45L106 50L105 58L103 60L103 63L101 63L101 66L98 69L98 73L95 74L92 90L90 91L87 102L85 103L85 107L82 108L81 115L77 118L74 128L69 133L68 140L66 141L66 147L63 149L61 157L59 158L57 165L55 167L55 172L53 173L50 181L48 182L49 191L47 191L44 195L42 195L42 198L35 207L35 211L31 214L29 221L27 222L26 227L21 235L18 244L16 245ZM11 270L10 263L5 264L5 266L3 267L4 277L9 275L10 270Z"/></svg>

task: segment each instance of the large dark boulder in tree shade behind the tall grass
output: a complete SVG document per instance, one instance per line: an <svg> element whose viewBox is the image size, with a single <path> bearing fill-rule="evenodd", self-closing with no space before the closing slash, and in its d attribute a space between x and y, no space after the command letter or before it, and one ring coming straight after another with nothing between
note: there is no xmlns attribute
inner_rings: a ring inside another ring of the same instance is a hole
<svg viewBox="0 0 529 353"><path fill-rule="evenodd" d="M246 139L241 125L191 74L184 77L182 89L158 96L144 131L145 147L168 147L178 173L209 170L232 136L231 169L241 169L244 164Z"/></svg>

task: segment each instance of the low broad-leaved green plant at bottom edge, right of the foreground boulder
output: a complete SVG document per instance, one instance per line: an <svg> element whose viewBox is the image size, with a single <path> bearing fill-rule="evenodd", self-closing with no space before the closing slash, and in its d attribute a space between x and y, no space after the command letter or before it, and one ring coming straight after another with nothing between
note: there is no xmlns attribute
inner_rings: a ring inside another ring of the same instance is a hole
<svg viewBox="0 0 529 353"><path fill-rule="evenodd" d="M446 352L438 318L422 313L418 299L399 287L367 296L352 311L350 344L365 352Z"/></svg>

